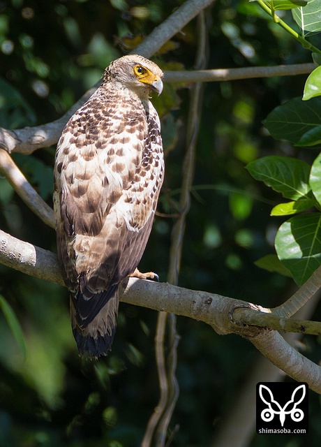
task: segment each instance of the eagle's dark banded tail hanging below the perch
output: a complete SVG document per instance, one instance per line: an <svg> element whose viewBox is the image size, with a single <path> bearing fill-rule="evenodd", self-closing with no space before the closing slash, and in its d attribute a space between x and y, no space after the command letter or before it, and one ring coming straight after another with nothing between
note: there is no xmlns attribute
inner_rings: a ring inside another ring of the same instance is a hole
<svg viewBox="0 0 321 447"><path fill-rule="evenodd" d="M98 358L110 353L116 332L118 303L116 290L95 318L85 328L80 328L77 324L75 305L70 299L71 327L80 356L88 352L91 357Z"/></svg>

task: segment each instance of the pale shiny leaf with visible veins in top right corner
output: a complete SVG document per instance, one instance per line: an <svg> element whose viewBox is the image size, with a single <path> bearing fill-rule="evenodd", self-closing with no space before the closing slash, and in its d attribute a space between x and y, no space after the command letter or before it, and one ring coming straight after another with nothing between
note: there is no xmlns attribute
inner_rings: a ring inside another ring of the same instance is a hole
<svg viewBox="0 0 321 447"><path fill-rule="evenodd" d="M320 33L321 4L318 0L308 0L304 8L292 10L292 16L304 34Z"/></svg>

